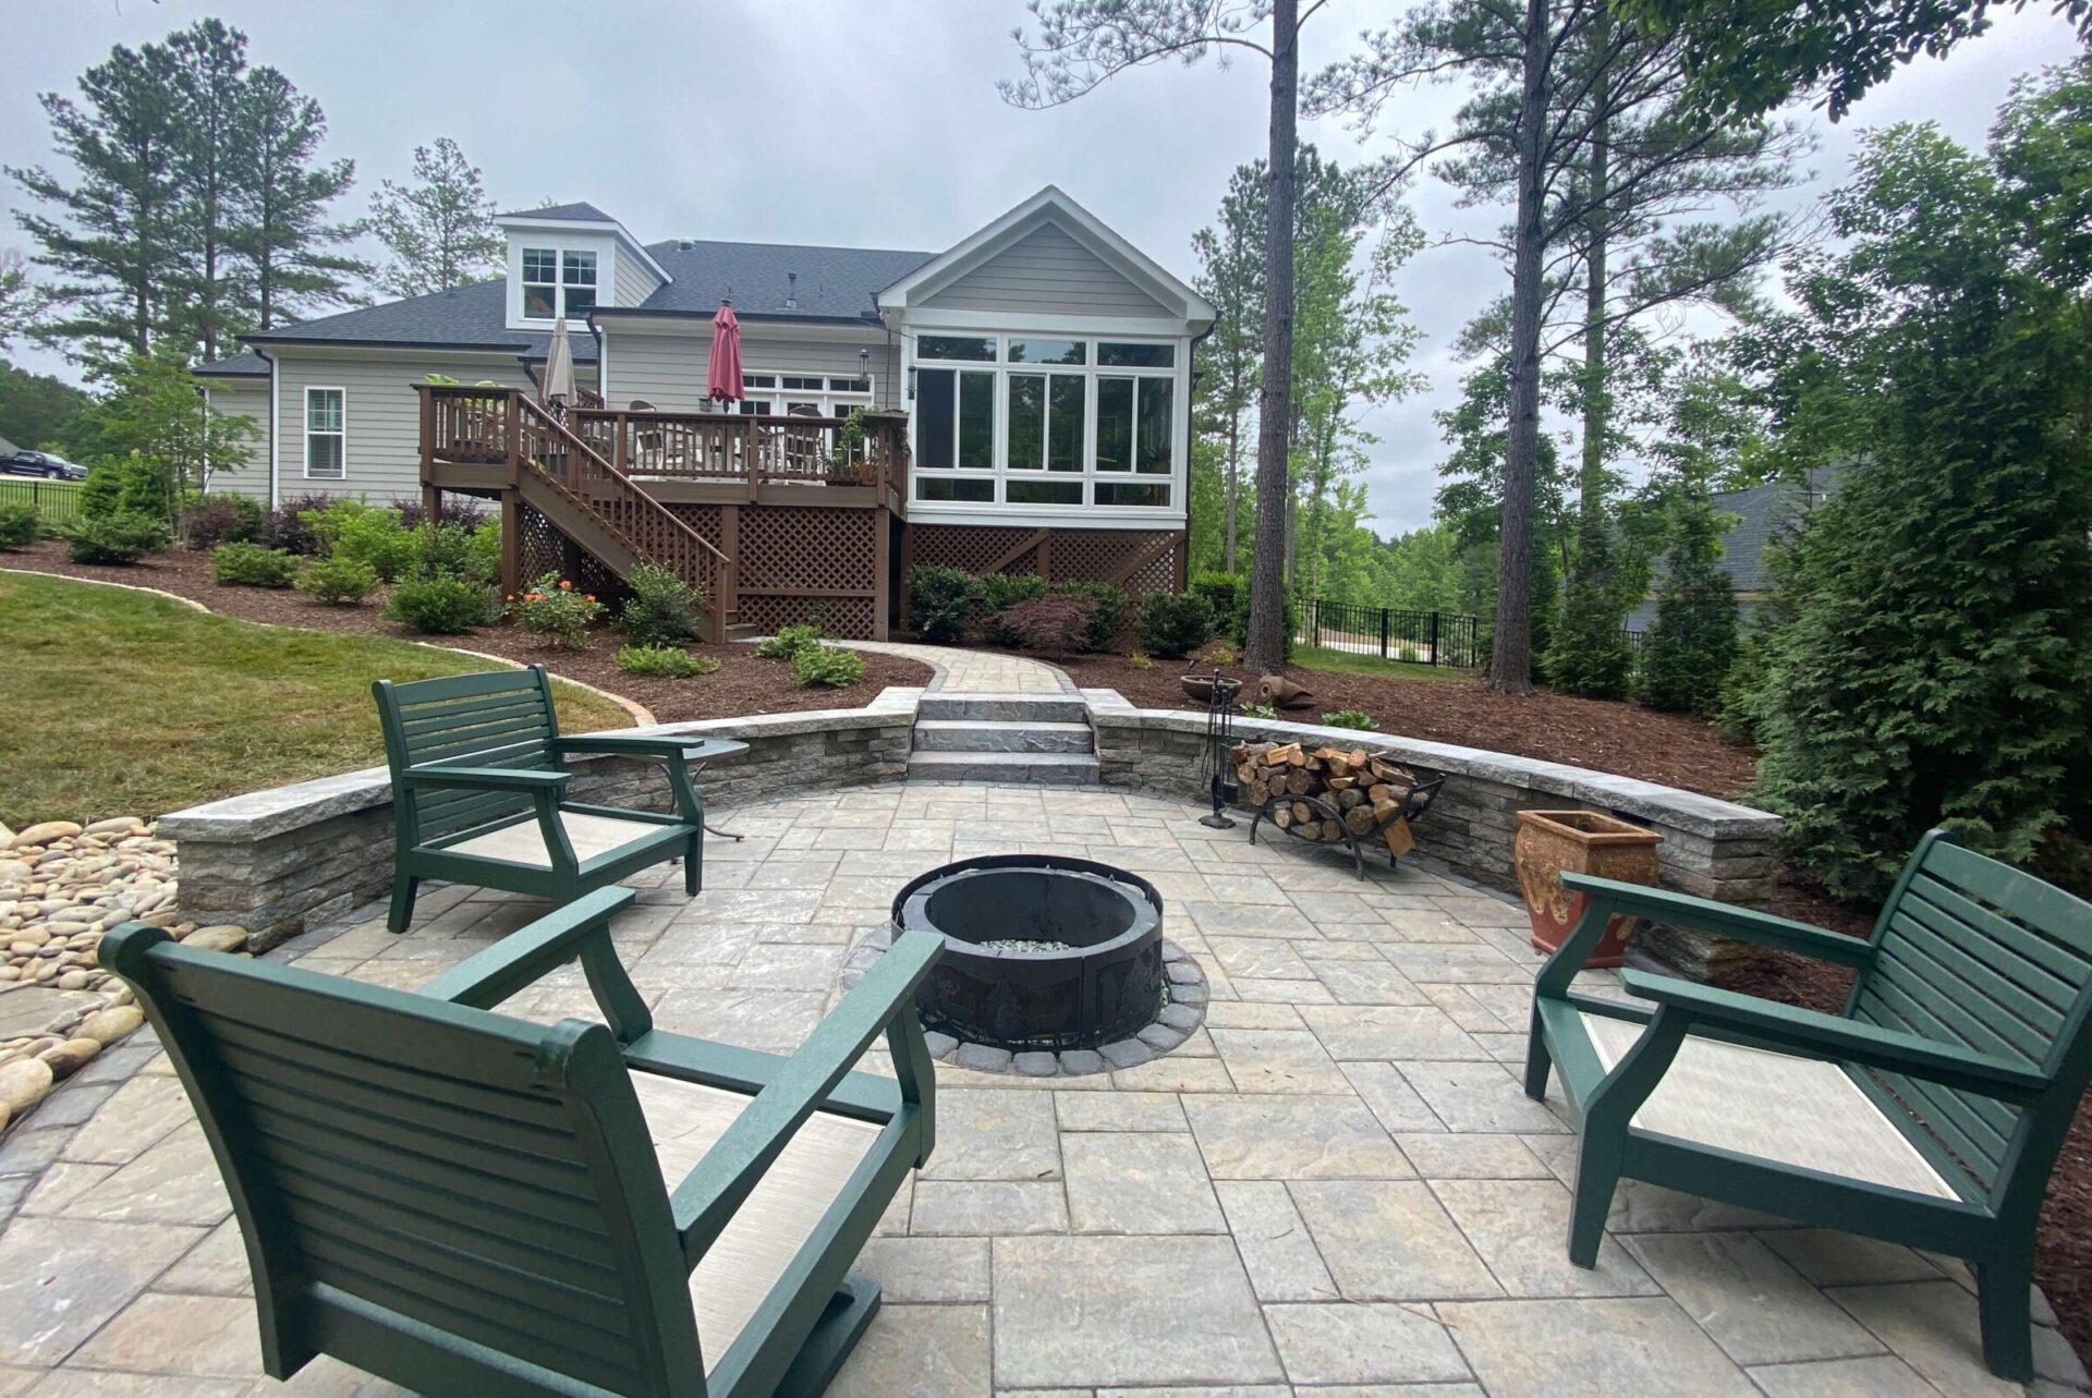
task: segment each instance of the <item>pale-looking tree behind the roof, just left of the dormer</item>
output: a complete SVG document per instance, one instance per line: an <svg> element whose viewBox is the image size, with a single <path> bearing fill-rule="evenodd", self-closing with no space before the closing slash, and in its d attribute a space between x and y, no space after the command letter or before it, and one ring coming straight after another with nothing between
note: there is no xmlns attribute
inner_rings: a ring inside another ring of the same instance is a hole
<svg viewBox="0 0 2092 1398"><path fill-rule="evenodd" d="M487 280L508 247L479 167L450 136L437 136L433 149L414 146L410 184L379 182L370 230L391 251L379 283L400 297Z"/></svg>

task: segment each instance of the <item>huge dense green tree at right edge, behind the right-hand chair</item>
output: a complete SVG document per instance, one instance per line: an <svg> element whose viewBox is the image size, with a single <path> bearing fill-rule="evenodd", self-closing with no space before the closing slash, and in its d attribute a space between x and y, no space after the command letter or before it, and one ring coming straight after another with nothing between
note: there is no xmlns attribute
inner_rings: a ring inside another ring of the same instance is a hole
<svg viewBox="0 0 2092 1398"><path fill-rule="evenodd" d="M2027 211L2092 149L2019 140L2088 115L2079 61L2015 94L1989 159L1870 134L1830 203L1849 245L1793 287L1782 429L1849 456L1789 550L1757 799L1835 894L1879 894L1935 825L2027 860L2088 814L2092 264Z"/></svg>

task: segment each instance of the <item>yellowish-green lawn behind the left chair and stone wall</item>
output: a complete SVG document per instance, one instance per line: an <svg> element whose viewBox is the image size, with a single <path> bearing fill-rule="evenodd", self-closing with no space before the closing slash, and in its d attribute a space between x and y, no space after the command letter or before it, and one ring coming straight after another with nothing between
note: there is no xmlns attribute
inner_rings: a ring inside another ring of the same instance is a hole
<svg viewBox="0 0 2092 1398"><path fill-rule="evenodd" d="M494 670L387 636L255 626L0 573L0 820L159 816L385 760L370 680ZM559 686L567 732L632 718Z"/></svg>

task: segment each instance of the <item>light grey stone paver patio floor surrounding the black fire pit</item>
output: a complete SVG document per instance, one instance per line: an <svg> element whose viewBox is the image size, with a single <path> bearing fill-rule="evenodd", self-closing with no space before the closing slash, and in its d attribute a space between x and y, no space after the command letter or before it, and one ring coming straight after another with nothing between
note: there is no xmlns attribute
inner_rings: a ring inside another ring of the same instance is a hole
<svg viewBox="0 0 2092 1398"><path fill-rule="evenodd" d="M1368 881L1197 808L1098 791L854 789L734 812L707 892L655 871L615 929L655 1021L791 1048L902 881L1052 850L1146 875L1211 977L1180 1051L1096 1078L939 1067L937 1151L866 1247L885 1310L835 1398L1985 1398L1966 1272L1625 1185L1563 1256L1575 1136L1527 1101L1521 908ZM538 904L437 889L287 948L412 988ZM1596 977L1605 984L1605 977ZM592 1015L567 969L508 1007ZM255 1375L247 1264L165 1059L121 1046L0 1149L0 1396L395 1394ZM2054 1331L2048 1373L2079 1379ZM1414 1385L1414 1388L1412 1388ZM2038 1392L2061 1394L2056 1383Z"/></svg>

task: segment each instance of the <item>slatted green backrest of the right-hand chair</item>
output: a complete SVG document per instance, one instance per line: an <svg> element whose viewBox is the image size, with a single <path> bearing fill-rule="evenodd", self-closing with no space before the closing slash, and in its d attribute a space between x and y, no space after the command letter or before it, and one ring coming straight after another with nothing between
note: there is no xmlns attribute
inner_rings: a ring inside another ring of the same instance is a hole
<svg viewBox="0 0 2092 1398"><path fill-rule="evenodd" d="M1902 1074L1883 1084L1983 1193L2010 1182L2029 1130L2061 1141L2088 1057L2092 904L1927 835L1874 929L1847 1015L2056 1078L2033 1107ZM2061 1118L2061 1126L2054 1118ZM2042 1166L2046 1178L2046 1164Z"/></svg>

